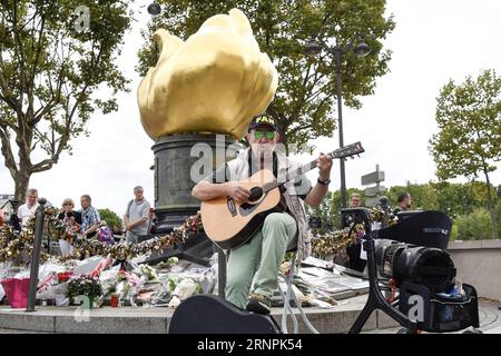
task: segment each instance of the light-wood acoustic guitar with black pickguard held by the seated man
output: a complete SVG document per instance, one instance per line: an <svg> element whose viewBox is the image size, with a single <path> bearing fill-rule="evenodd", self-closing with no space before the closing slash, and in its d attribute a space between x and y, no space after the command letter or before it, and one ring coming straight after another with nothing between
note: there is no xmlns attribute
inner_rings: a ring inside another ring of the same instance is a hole
<svg viewBox="0 0 501 356"><path fill-rule="evenodd" d="M327 154L333 159L345 159L364 152L361 142L352 144ZM285 211L281 189L289 180L316 168L317 160L287 172L284 181L277 181L268 169L257 171L238 185L250 191L248 201L236 201L232 197L220 197L203 201L202 224L208 238L223 249L233 249L245 244L263 225L271 212Z"/></svg>

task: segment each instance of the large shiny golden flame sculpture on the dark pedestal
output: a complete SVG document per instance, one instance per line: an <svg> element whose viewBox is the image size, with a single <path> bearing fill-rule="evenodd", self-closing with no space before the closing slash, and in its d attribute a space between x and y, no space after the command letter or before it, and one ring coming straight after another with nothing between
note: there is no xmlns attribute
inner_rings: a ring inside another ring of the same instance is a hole
<svg viewBox="0 0 501 356"><path fill-rule="evenodd" d="M272 101L278 73L237 9L206 20L186 42L159 29L160 57L141 80L141 123L153 139L214 132L243 138Z"/></svg>

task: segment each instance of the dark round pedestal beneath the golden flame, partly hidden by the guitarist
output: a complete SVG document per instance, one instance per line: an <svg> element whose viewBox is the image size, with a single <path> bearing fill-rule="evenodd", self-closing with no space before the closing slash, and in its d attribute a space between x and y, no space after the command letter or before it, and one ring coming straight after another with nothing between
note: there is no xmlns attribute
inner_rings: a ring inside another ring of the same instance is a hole
<svg viewBox="0 0 501 356"><path fill-rule="evenodd" d="M216 142L216 138L218 142ZM229 145L236 144L235 139L224 135L186 134L160 137L151 148L155 152L155 209L157 216L153 228L154 234L170 233L173 228L180 226L186 218L196 214L200 208L200 202L191 197L191 189L197 181L193 181L190 176L191 166L202 157L199 150L193 150L197 144L197 148L205 145L207 149L212 149L213 169L237 155L235 145L228 148ZM191 154L195 157L191 157ZM220 161L216 161L216 154L219 155Z"/></svg>

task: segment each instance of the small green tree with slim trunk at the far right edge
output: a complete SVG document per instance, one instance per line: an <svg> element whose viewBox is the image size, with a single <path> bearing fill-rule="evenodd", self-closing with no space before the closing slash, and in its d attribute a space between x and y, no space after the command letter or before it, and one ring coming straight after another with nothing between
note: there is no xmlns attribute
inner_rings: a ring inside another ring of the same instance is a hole
<svg viewBox="0 0 501 356"><path fill-rule="evenodd" d="M501 160L501 78L483 70L477 79L450 80L436 99L439 132L430 140L439 179L483 175L492 237L497 236L489 174Z"/></svg>

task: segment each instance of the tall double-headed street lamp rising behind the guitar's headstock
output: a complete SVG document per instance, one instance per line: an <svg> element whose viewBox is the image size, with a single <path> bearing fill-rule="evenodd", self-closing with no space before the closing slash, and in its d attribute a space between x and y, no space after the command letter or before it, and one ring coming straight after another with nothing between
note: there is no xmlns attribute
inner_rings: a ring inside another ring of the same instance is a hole
<svg viewBox="0 0 501 356"><path fill-rule="evenodd" d="M340 28L336 26L336 32L340 32ZM335 71L336 71L336 91L337 91L337 122L338 122L338 129L340 129L340 147L344 146L343 140L343 92L342 92L342 77L341 77L341 62L342 57L346 52L348 52L353 48L353 52L358 58L366 57L371 52L371 48L367 43L364 41L358 42L355 47L354 41L350 41L345 47L341 47L338 38L336 36L335 38L336 43L334 47L330 47L324 41L310 41L304 47L304 52L308 57L316 57L318 56L322 50L327 51L331 55L334 55L334 61L335 61ZM343 208L346 208L346 176L344 170L344 159L340 159L340 172L341 172L341 206Z"/></svg>

